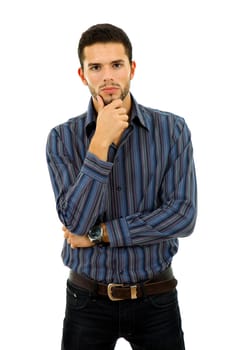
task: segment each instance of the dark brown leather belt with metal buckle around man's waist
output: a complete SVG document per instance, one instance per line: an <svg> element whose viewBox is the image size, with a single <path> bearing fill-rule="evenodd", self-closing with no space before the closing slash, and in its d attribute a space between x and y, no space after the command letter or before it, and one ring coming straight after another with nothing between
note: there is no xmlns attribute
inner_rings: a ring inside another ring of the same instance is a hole
<svg viewBox="0 0 233 350"><path fill-rule="evenodd" d="M88 290L91 294L108 296L112 301L137 299L147 295L162 294L171 291L177 285L177 280L173 276L171 267L158 274L154 280L132 285L117 283L103 284L78 275L74 271L70 272L69 281L78 288Z"/></svg>

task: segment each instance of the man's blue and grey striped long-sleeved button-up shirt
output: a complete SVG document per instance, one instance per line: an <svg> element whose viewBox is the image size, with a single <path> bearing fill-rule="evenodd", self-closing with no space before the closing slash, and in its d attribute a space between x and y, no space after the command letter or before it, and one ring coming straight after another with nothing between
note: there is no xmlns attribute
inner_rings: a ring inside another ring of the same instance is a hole
<svg viewBox="0 0 233 350"><path fill-rule="evenodd" d="M132 96L130 125L102 161L88 151L96 112L53 128L46 156L61 222L77 235L105 222L110 244L71 249L66 266L94 280L134 283L166 269L196 222L196 176L185 120Z"/></svg>

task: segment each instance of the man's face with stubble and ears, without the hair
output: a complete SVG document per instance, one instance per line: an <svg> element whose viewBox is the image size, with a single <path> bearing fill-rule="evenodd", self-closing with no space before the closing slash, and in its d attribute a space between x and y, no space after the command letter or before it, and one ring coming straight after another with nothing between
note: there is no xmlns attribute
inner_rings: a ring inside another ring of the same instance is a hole
<svg viewBox="0 0 233 350"><path fill-rule="evenodd" d="M97 43L84 49L83 69L78 74L95 98L100 95L105 104L129 95L135 62L130 64L120 43Z"/></svg>

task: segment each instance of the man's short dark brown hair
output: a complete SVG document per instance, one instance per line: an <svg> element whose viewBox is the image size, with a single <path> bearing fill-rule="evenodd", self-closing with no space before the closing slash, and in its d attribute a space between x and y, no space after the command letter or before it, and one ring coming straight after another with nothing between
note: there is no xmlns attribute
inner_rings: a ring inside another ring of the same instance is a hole
<svg viewBox="0 0 233 350"><path fill-rule="evenodd" d="M84 49L96 43L121 43L125 48L125 53L132 62L132 44L128 35L119 27L109 23L93 25L82 33L78 44L78 57L83 67Z"/></svg>

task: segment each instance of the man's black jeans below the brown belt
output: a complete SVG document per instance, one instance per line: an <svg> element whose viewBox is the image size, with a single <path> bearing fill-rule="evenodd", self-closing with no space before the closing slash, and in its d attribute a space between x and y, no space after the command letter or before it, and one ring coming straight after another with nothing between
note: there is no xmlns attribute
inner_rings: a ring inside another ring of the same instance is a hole
<svg viewBox="0 0 233 350"><path fill-rule="evenodd" d="M113 350L125 338L133 350L184 350L176 289L135 300L89 295L67 281L62 350Z"/></svg>

